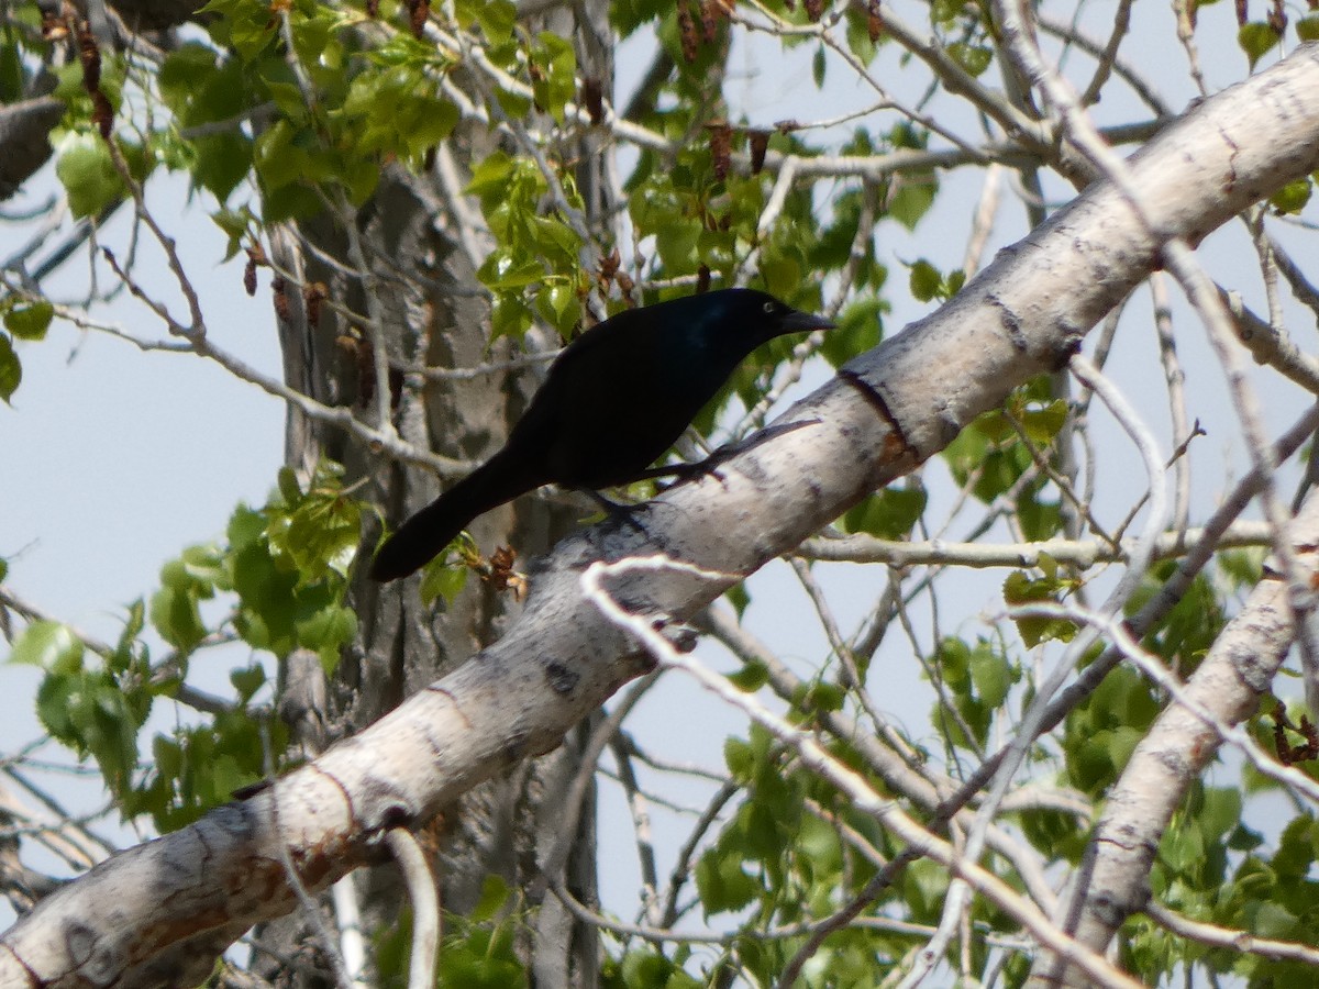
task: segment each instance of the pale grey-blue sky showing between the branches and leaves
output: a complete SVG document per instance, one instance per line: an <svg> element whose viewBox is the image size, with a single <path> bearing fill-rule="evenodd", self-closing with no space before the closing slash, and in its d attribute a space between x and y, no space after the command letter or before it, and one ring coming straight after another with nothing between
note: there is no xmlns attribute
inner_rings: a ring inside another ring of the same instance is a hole
<svg viewBox="0 0 1319 989"><path fill-rule="evenodd" d="M1136 4L1137 22L1122 50L1128 61L1153 76L1165 100L1181 109L1194 92L1182 50L1167 47L1173 37L1167 26L1170 7ZM919 8L911 4L898 4L896 9L913 22L919 17ZM1045 9L1066 17L1074 7L1046 4ZM1112 4L1093 3L1082 9L1091 36L1107 37L1111 21L1105 18L1111 17ZM1232 41L1235 24L1231 17L1228 4L1202 11L1198 37L1207 55L1204 66L1212 90L1244 73L1245 59ZM1215 38L1221 44L1212 44ZM649 45L636 38L620 47L620 92L627 92L648 65ZM873 102L873 95L856 86L839 66L831 66L826 90L816 91L811 80L813 55L810 45L785 54L764 44L739 41L732 58L735 73L725 90L733 116L745 115L751 124L758 125L786 117L809 121L835 117ZM1086 61L1076 58L1076 62ZM878 75L900 99L914 103L923 92L923 76L904 70L893 46L881 54L881 66ZM1088 73L1084 78L1088 79ZM1134 102L1128 99L1121 84L1112 86L1107 94L1096 108L1101 124L1148 116L1133 111ZM939 115L950 105L952 100L939 98L931 112ZM975 121L964 111L956 111L951 121L963 133L977 133ZM905 262L926 257L942 269L960 265L969 216L981 194L980 177L981 173L969 170L942 175L943 191L914 233L894 223L881 225L878 251L890 268L889 294L894 303L894 313L885 323L888 334L929 310L906 291ZM985 261L997 247L1026 233L1025 210L1014 199L1016 179L1004 175L1001 182L1004 203ZM828 191L828 187L820 189L822 195ZM1054 186L1049 194L1066 200L1071 191ZM57 185L47 167L28 183L22 195L4 207L18 212L55 196ZM212 339L277 377L281 363L268 273L261 273L260 289L249 298L241 289L241 258L222 264L226 239L206 216L211 203L190 200L185 181L164 174L153 178L148 203L171 222L179 236L179 252L202 295ZM66 223L63 228L67 227ZM116 253L124 256L129 229L129 218L116 216L100 233L102 241L115 245ZM50 243L58 240L55 235ZM0 257L20 244L18 239L0 244ZM158 257L152 257L153 245L142 239L140 251L138 272L144 273L144 280L182 311L168 272ZM1200 256L1212 273L1239 289L1257 311L1265 311L1254 253L1241 224L1228 224L1215 233ZM158 274L148 277L145 273L153 268ZM96 277L104 284L108 277L104 265L98 266ZM67 262L46 289L54 298L75 303L86 293L87 284L88 262L83 252ZM1241 473L1246 460L1240 430L1223 400L1223 376L1177 289L1170 287L1170 291L1175 299L1179 352L1188 376L1191 415L1199 417L1210 433L1192 451L1198 481L1192 521L1200 521L1212 510L1213 497L1224 489L1224 477ZM1312 315L1294 309L1289 309L1289 314L1297 342L1312 351ZM138 338L164 338L160 322L127 293L98 309L98 316ZM1121 360L1109 365L1111 373L1158 434L1166 436L1166 398L1146 290L1137 291L1130 301L1115 352L1120 352ZM191 355L142 353L121 340L59 322L44 343L22 345L20 356L24 382L12 407L0 405L0 556L9 562L7 587L32 607L70 622L79 632L113 641L125 605L135 597L149 596L162 562L178 555L185 546L222 535L236 504L265 501L282 462L284 409L274 398L232 378L214 363ZM794 394L820 384L827 375L823 367L811 368ZM1275 381L1275 377L1257 375L1257 380ZM1275 434L1299 414L1303 396L1290 386L1266 386L1261 398L1269 427ZM1107 459L1100 487L1101 508L1109 518L1121 517L1145 488L1140 460L1105 414L1096 413L1095 419ZM1165 446L1165 452L1169 450ZM943 468L935 462L929 469L936 475ZM1291 491L1285 487L1286 497L1290 498ZM938 508L939 502L934 505ZM842 628L851 632L880 593L881 571L828 564L819 566L816 572L838 609ZM988 632L991 618L1001 611L997 588L1004 576L1001 571L968 576L964 593L958 599L958 613L943 614L942 628L959 634ZM799 673L818 669L826 653L823 634L786 564L770 564L754 575L748 587L752 596L748 624L756 634L790 658ZM933 625L927 611L917 607L913 614L918 632L929 640ZM153 651L158 655L158 646ZM877 661L876 670L882 676L878 682L884 688L876 694L881 708L900 727L919 731L930 695L919 680L919 669L910 651L906 642L890 637ZM716 667L732 669L732 663L710 645L703 645L699 655ZM224 684L228 669L248 659L245 649L215 654L207 659L212 669L200 671L200 686L208 686L211 678L212 687ZM40 734L32 713L38 679L37 670L0 665L0 691L7 698L0 708L4 712L0 752L13 752ZM186 716L170 704L160 704L154 715L161 731ZM712 770L723 766L723 740L745 732L739 713L675 674L663 678L648 695L629 728L644 745L662 752L666 758ZM661 785L658 779L649 782ZM59 778L54 778L51 786L77 811L98 806L99 798L87 787L73 787ZM699 799L699 787L682 790L679 796L689 803ZM685 833L685 819L658 807L652 810L657 840L662 848L671 849ZM133 840L131 833L116 828L102 831L117 833L120 843ZM634 840L627 808L611 785L601 791L600 847L601 861L617 866L601 869L607 902L620 902L620 898L629 902L636 887ZM34 864L44 865L36 860ZM661 874L666 874L667 868L669 862L663 861ZM5 924L7 916L0 909L0 926Z"/></svg>

